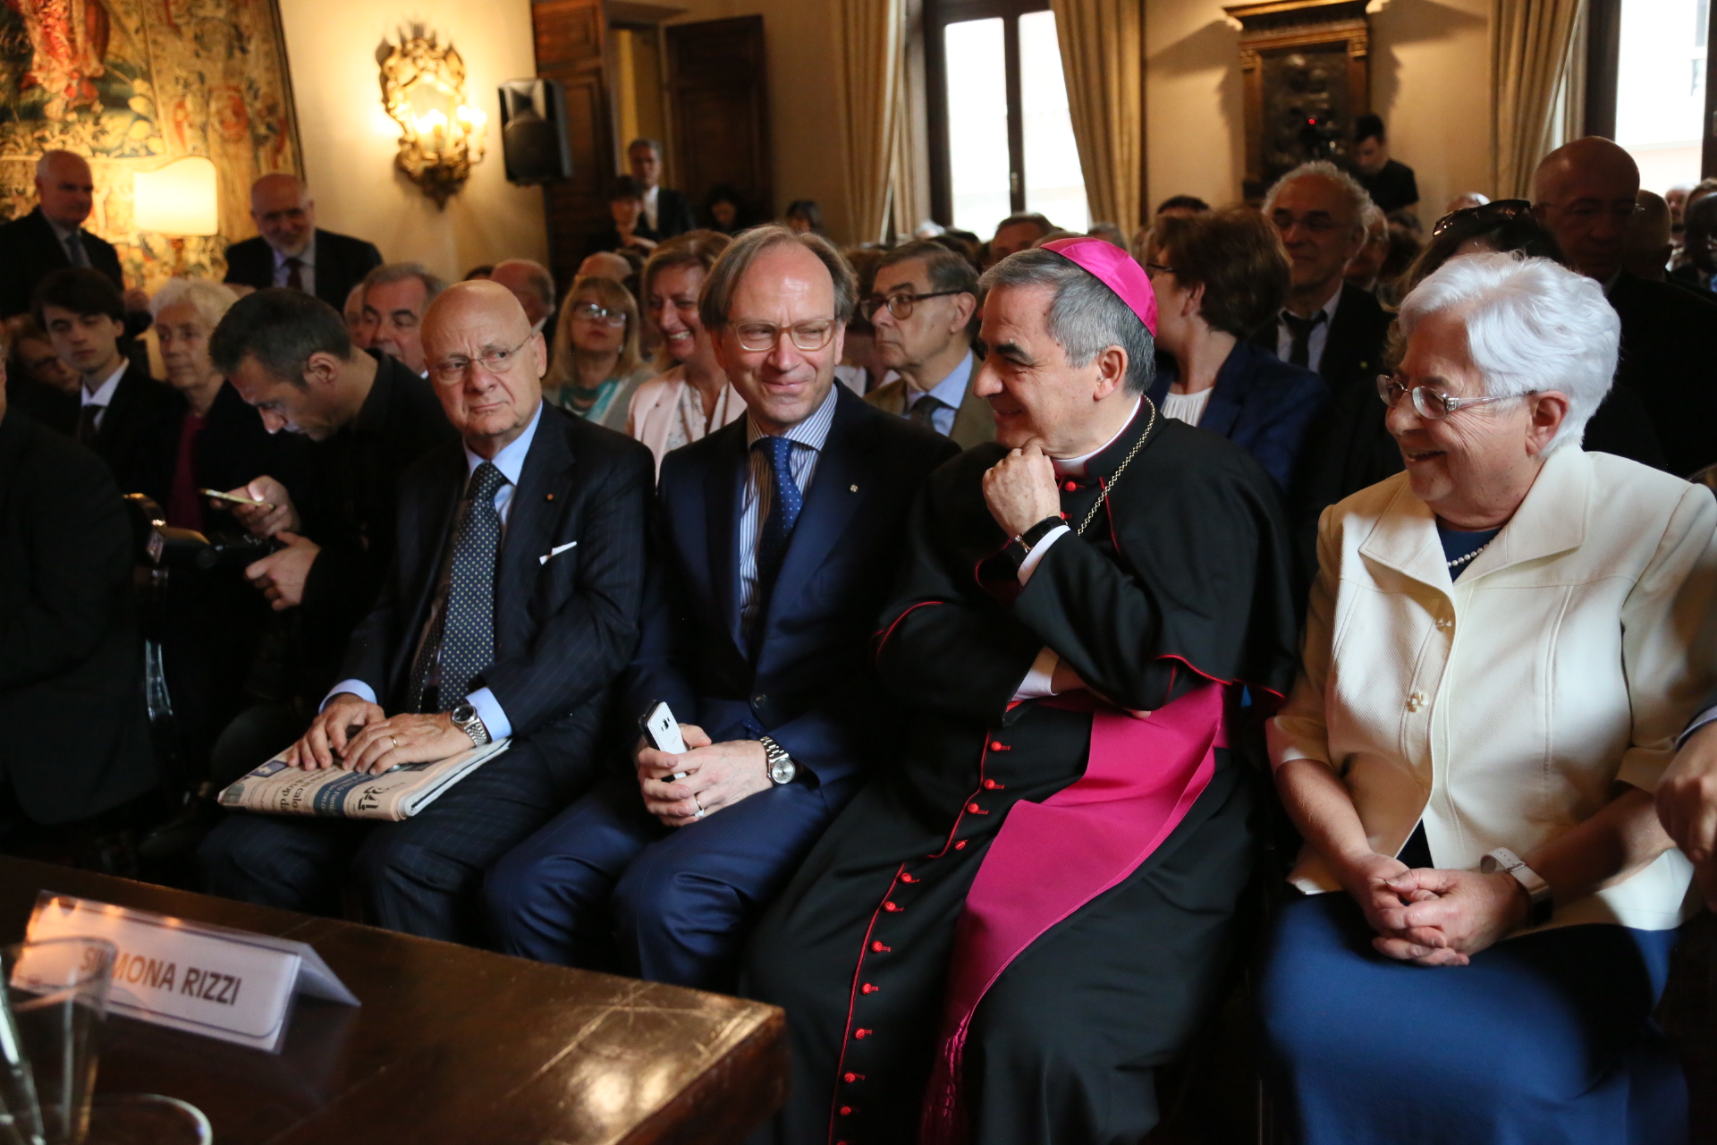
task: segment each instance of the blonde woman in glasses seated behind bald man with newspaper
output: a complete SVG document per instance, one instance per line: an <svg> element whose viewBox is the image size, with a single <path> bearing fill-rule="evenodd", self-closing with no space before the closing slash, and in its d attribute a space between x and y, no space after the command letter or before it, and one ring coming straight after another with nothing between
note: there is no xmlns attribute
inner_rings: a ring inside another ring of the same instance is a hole
<svg viewBox="0 0 1717 1145"><path fill-rule="evenodd" d="M560 409L625 433L632 393L654 373L639 357L639 304L613 278L572 283L555 330L555 359L543 397Z"/></svg>

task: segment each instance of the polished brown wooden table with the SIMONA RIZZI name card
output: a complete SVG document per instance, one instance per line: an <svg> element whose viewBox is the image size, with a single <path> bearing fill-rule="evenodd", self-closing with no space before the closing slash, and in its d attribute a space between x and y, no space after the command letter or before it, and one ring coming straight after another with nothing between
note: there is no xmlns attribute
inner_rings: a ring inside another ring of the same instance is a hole
<svg viewBox="0 0 1717 1145"><path fill-rule="evenodd" d="M216 1145L740 1142L786 1095L780 1009L0 857L38 891L309 942L362 1008L299 999L280 1054L110 1018L96 1088L167 1094Z"/></svg>

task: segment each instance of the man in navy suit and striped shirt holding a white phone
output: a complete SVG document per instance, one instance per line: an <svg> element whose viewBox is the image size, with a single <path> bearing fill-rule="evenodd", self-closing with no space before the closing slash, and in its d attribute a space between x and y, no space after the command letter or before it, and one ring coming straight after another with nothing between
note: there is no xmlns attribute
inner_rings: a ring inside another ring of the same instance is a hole
<svg viewBox="0 0 1717 1145"><path fill-rule="evenodd" d="M743 421L661 469L625 712L690 748L622 774L489 872L501 949L733 989L749 924L893 745L871 664L908 506L958 446L834 383L852 268L817 235L745 232L704 283ZM616 948L618 942L618 948Z"/></svg>

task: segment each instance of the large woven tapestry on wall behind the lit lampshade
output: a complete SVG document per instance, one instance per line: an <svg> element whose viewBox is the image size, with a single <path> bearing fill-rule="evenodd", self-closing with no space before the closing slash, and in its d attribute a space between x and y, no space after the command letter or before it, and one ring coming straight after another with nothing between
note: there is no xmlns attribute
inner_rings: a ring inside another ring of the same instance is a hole
<svg viewBox="0 0 1717 1145"><path fill-rule="evenodd" d="M258 175L299 172L285 38L275 0L0 0L0 221L34 206L36 158L89 158L86 227L115 244L127 285L175 270L225 273L221 251L256 233ZM215 163L221 233L132 230L132 173L184 154Z"/></svg>

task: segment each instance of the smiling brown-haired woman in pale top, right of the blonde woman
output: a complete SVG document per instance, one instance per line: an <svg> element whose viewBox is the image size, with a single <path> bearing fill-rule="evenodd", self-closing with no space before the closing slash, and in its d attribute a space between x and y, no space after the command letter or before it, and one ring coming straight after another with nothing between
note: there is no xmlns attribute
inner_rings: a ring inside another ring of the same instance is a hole
<svg viewBox="0 0 1717 1145"><path fill-rule="evenodd" d="M661 335L656 366L627 410L627 434L656 455L656 472L670 450L690 445L745 414L745 398L728 385L716 347L697 316L697 295L709 268L731 240L713 230L668 239L644 264L644 309Z"/></svg>

